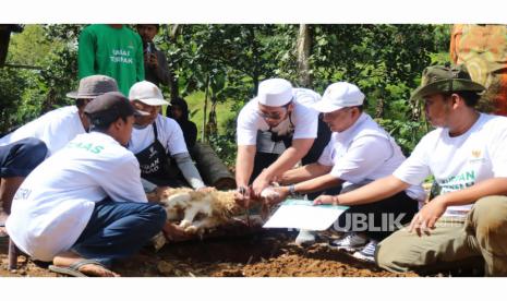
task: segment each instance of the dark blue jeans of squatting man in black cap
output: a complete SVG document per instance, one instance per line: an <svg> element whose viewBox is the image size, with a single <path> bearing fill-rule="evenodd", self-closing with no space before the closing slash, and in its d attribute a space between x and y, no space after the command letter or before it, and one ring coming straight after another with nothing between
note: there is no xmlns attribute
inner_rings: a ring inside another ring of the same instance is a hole
<svg viewBox="0 0 507 301"><path fill-rule="evenodd" d="M85 258L111 266L129 257L161 231L166 210L153 203L114 202L109 197L95 204L92 217L72 251Z"/></svg>

